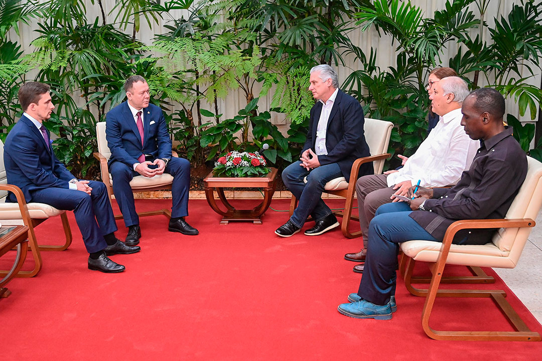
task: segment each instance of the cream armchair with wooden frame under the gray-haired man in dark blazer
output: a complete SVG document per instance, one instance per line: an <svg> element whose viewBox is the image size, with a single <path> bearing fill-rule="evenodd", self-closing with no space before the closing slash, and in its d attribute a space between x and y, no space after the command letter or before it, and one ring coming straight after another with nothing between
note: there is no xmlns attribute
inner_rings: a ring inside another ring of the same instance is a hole
<svg viewBox="0 0 542 361"><path fill-rule="evenodd" d="M356 238L362 235L361 231L350 232L350 221L352 219L359 220L357 216L352 215L352 207L354 202L354 194L356 194L356 181L359 172L359 167L363 163L373 162L373 168L375 174L381 174L384 168L384 161L390 157L388 153L388 145L390 143L391 129L393 123L386 122L378 119L365 118L365 140L369 145L370 156L358 158L352 165L352 171L350 179L346 181L344 177L339 177L330 180L324 186L324 193L330 193L346 198L344 211L334 212L335 215L343 217L341 224L341 230L347 238ZM305 182L307 182L305 178ZM297 206L297 199L292 195L290 202L290 215L294 213L294 209Z"/></svg>

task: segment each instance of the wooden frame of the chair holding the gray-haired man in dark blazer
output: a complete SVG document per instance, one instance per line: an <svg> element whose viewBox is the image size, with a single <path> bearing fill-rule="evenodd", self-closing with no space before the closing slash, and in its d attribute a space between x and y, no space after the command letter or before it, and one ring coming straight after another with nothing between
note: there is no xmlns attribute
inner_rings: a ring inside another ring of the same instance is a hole
<svg viewBox="0 0 542 361"><path fill-rule="evenodd" d="M358 172L359 168L364 163L377 161L377 160L384 160L391 156L389 153L384 154L377 154L377 155L370 155L362 158L358 158L354 161L352 164L352 170L350 172L350 179L348 182L348 188L346 189L339 189L337 191L324 191L323 193L329 193L333 195L338 195L343 198L346 198L345 205L344 205L344 211L334 211L333 213L339 217L343 217L343 222L341 222L341 231L343 231L343 234L346 238L357 238L362 235L362 231L357 232L351 232L350 231L350 221L357 220L359 221L358 216L352 215L352 208L353 208L353 202L354 202L354 195L356 194L356 182L358 180ZM295 198L295 196L292 194L292 199L290 201L290 211L289 215L292 216L294 213L295 207L298 205L298 200ZM310 219L310 218L309 218Z"/></svg>

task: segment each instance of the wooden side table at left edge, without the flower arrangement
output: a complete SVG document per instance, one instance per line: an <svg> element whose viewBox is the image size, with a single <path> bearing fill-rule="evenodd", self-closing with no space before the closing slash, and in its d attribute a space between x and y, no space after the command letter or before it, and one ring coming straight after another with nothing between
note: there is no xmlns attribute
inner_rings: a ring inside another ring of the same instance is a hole
<svg viewBox="0 0 542 361"><path fill-rule="evenodd" d="M8 297L11 291L4 286L15 277L27 258L28 251L28 227L27 226L6 226L0 228L0 257L17 247L17 255L11 270L0 280L0 298Z"/></svg>

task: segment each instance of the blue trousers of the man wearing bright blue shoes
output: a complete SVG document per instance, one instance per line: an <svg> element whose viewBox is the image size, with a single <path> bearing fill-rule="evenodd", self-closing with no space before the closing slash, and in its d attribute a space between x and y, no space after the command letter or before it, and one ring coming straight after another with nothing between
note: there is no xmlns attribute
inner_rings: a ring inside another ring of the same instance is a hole
<svg viewBox="0 0 542 361"><path fill-rule="evenodd" d="M373 304L385 305L395 294L399 243L409 240L442 242L410 218L406 202L378 207L369 224L369 252L365 258L358 295Z"/></svg>

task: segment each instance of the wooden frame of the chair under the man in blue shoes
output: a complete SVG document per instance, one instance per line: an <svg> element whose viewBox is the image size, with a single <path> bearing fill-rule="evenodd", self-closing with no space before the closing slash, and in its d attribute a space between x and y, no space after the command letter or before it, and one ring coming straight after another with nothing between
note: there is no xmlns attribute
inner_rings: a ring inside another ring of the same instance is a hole
<svg viewBox="0 0 542 361"><path fill-rule="evenodd" d="M408 291L414 296L425 297L425 304L422 311L422 327L425 333L436 340L483 340L483 341L540 341L540 334L531 331L525 322L514 311L512 306L505 299L504 290L439 290L442 283L442 273L450 251L454 235L461 229L466 228L524 228L534 227L532 219L483 219L483 220L461 220L456 221L448 227L437 260L430 264L431 277L428 289L416 288L412 283L417 283L412 277L415 260L403 255L404 280ZM456 280L460 283L460 280ZM456 282L454 282L456 283ZM469 283L467 281L467 283ZM436 297L491 297L508 321L517 331L437 331L429 326L429 318L435 304Z"/></svg>

